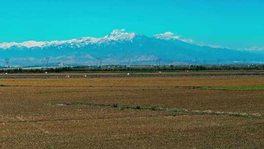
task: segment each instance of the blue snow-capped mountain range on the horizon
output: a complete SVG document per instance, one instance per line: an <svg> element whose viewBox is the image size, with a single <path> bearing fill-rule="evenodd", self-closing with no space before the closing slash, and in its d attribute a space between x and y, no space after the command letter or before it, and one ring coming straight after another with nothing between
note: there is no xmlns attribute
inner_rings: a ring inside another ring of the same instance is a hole
<svg viewBox="0 0 264 149"><path fill-rule="evenodd" d="M20 66L96 65L98 59L102 59L103 64L156 64L158 58L161 64L192 64L196 57L198 64L205 61L212 64L219 59L222 63L253 61L263 59L264 55L189 44L171 32L147 37L124 29L113 30L101 38L0 44L0 63L10 59L11 64Z"/></svg>

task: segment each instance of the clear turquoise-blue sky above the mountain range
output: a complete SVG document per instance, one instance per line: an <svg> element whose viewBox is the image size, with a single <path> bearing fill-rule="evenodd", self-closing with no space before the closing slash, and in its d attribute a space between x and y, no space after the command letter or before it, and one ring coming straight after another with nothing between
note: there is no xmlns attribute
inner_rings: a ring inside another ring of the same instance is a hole
<svg viewBox="0 0 264 149"><path fill-rule="evenodd" d="M101 37L125 28L264 47L264 0L1 0L0 20L0 43Z"/></svg>

